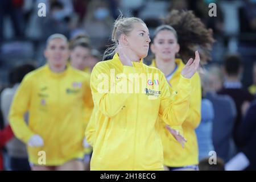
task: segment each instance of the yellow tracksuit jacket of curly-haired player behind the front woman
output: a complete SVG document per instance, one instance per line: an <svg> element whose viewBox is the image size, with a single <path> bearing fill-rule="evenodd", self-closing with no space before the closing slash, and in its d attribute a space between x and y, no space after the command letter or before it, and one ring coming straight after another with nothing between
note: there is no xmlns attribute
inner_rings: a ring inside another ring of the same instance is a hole
<svg viewBox="0 0 256 182"><path fill-rule="evenodd" d="M176 90L179 84L180 72L184 67L181 59L175 60L177 69L171 77L170 83L172 89ZM152 61L152 67L156 67L155 61ZM201 82L199 74L196 73L191 78L191 100L187 117L182 124L184 137L187 139L185 147L182 148L176 142L174 137L165 128L166 123L160 119L160 136L163 143L164 165L169 167L183 167L198 164L198 146L195 129L201 121Z"/></svg>

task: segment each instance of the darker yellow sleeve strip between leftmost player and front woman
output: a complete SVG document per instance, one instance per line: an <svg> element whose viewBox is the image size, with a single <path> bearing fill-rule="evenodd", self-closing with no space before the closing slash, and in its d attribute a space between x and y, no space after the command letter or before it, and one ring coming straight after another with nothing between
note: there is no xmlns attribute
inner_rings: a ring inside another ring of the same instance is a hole
<svg viewBox="0 0 256 182"><path fill-rule="evenodd" d="M93 100L92 100L92 91L90 90L90 75L86 74L85 80L85 94L84 94L84 103L85 103L85 122L86 125L89 122L90 115L93 110Z"/></svg>

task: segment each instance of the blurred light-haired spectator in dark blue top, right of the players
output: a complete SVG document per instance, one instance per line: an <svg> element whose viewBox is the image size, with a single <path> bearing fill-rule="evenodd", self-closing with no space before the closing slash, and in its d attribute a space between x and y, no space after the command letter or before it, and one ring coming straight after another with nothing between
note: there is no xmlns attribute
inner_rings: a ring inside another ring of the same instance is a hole
<svg viewBox="0 0 256 182"><path fill-rule="evenodd" d="M229 96L220 96L216 94L216 90L221 88L222 77L220 68L210 67L209 72L201 75L204 85L205 98L213 104L214 119L212 125L212 141L217 156L228 161L234 155L234 142L232 130L234 119L236 117L236 106ZM215 77L218 75L217 77ZM212 78L216 80L211 80ZM214 81L214 82L213 82Z"/></svg>

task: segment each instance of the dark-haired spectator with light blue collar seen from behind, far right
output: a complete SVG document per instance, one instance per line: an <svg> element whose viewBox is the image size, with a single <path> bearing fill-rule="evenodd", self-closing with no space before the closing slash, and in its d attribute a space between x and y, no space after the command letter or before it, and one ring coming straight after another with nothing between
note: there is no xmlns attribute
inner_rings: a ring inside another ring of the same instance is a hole
<svg viewBox="0 0 256 182"><path fill-rule="evenodd" d="M233 138L236 146L239 148L240 145L237 142L237 129L242 119L241 107L245 102L253 100L253 96L247 90L243 89L240 81L242 75L242 60L239 55L234 54L225 57L224 74L224 88L218 91L218 94L229 95L233 98L236 104L237 117L234 123Z"/></svg>

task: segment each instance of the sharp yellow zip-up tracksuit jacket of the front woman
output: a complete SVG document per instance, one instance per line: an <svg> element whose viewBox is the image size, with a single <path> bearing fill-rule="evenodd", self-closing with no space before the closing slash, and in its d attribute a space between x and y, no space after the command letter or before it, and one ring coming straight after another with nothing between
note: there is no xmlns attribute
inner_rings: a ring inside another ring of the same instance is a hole
<svg viewBox="0 0 256 182"><path fill-rule="evenodd" d="M187 117L191 79L180 76L177 92L170 92L159 69L142 61L132 63L133 67L122 65L116 53L112 60L93 68L90 85L94 110L86 129L90 134L86 138L93 146L92 170L162 170L158 116L176 130ZM139 75L139 82L129 73ZM146 80L142 75L147 75ZM135 90L138 88L140 92Z"/></svg>

